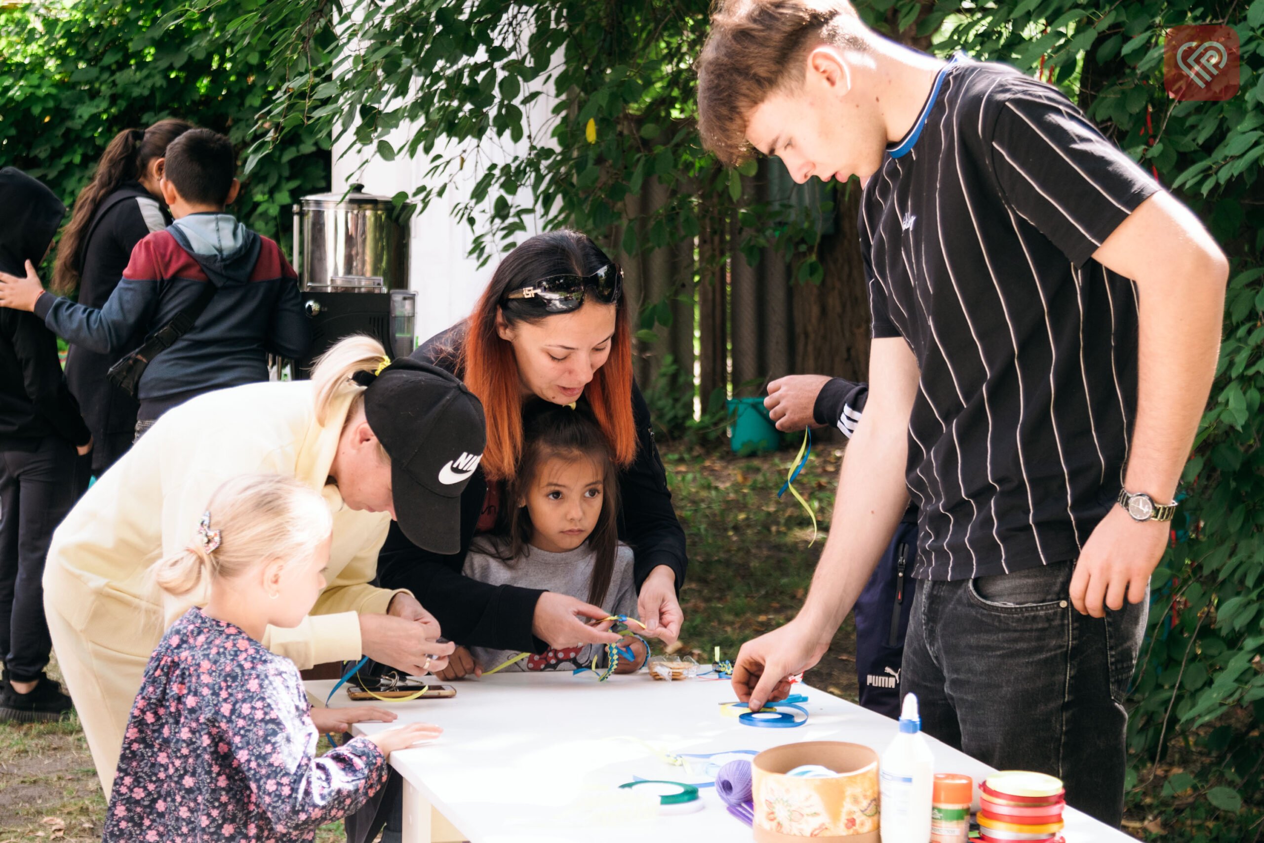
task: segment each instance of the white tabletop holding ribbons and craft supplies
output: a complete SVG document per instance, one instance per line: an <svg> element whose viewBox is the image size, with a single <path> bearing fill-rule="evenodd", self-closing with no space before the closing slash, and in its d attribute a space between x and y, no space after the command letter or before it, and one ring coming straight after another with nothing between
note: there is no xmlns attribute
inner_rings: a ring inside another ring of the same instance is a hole
<svg viewBox="0 0 1264 843"><path fill-rule="evenodd" d="M803 741L848 741L880 755L896 722L824 691L796 685L808 695L808 723L793 729L756 728L719 713L736 699L728 681L655 681L645 672L597 682L593 674L497 674L451 682L454 699L421 699L386 705L397 723L444 727L432 744L392 755L391 763L473 843L573 840L613 843L702 843L750 840L751 829L724 809L714 787L702 790L702 811L628 824L588 816L603 792L632 781L689 781L681 767L660 761L650 746L670 753L767 749ZM324 700L331 680L308 681ZM345 688L345 686L344 686ZM343 689L331 705L351 701ZM356 734L388 728L358 724ZM976 781L983 763L928 737L935 772L959 772ZM698 777L693 779L698 781ZM1067 843L1133 838L1076 810L1066 813Z"/></svg>

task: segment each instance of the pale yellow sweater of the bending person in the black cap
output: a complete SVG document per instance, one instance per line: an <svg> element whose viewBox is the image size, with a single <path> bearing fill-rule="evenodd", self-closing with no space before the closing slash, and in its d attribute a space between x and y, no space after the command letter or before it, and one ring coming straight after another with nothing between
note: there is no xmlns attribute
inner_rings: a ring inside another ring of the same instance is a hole
<svg viewBox="0 0 1264 843"><path fill-rule="evenodd" d="M350 396L325 426L316 423L311 382L224 389L168 411L57 528L48 599L95 645L148 658L171 623L206 602L205 583L173 598L152 584L149 567L192 541L221 483L284 474L321 490L334 513L329 585L302 624L269 627L263 643L298 667L359 658L356 613L384 613L396 591L369 585L391 516L349 509L326 485Z"/></svg>

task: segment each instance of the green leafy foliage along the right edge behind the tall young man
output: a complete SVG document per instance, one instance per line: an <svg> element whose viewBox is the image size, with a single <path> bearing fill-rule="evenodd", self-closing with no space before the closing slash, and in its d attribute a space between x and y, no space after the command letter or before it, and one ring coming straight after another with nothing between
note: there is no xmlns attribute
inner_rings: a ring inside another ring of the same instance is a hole
<svg viewBox="0 0 1264 843"><path fill-rule="evenodd" d="M1234 264L1216 383L1184 471L1186 528L1153 579L1158 597L1129 722L1131 781L1152 782L1176 734L1189 752L1210 752L1222 763L1201 768L1197 777L1172 775L1163 796L1193 789L1206 801L1192 809L1191 824L1217 815L1229 823L1244 800L1264 801L1256 775L1264 758L1264 0L1019 0L957 16L962 6L935 4L923 21L928 30L945 23L943 49L1028 72L1043 57L1055 83L1198 211ZM1205 23L1237 30L1241 90L1224 102L1168 99L1164 32ZM1222 725L1208 734L1215 723ZM1255 811L1250 822L1258 819Z"/></svg>

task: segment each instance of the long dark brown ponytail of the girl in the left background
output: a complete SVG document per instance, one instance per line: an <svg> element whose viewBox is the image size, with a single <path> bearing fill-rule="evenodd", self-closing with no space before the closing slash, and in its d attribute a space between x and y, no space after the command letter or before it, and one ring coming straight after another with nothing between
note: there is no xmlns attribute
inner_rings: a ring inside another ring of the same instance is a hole
<svg viewBox="0 0 1264 843"><path fill-rule="evenodd" d="M167 154L167 144L193 128L185 120L159 120L148 129L124 129L114 135L105 148L101 161L96 164L92 181L80 191L75 200L71 221L62 231L57 246L57 263L53 265L53 281L49 288L58 294L66 294L78 287L83 268L83 248L87 245L88 226L101 200L116 191L124 182L133 182L149 167L149 162Z"/></svg>

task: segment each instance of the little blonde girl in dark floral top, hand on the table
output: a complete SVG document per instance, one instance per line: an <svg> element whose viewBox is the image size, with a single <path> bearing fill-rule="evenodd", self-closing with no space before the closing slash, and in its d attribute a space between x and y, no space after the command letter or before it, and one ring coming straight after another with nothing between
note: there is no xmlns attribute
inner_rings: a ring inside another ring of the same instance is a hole
<svg viewBox="0 0 1264 843"><path fill-rule="evenodd" d="M316 492L244 475L190 525L188 550L155 566L157 585L177 595L207 578L210 599L149 658L104 840L310 840L382 786L393 749L440 733L415 723L316 757L298 670L259 640L269 624L297 626L315 604L331 530Z"/></svg>

